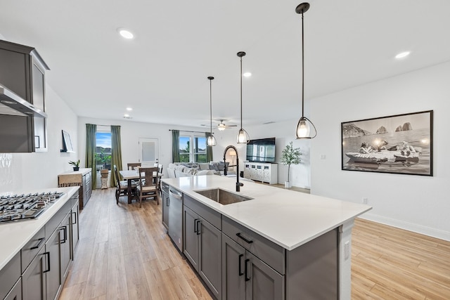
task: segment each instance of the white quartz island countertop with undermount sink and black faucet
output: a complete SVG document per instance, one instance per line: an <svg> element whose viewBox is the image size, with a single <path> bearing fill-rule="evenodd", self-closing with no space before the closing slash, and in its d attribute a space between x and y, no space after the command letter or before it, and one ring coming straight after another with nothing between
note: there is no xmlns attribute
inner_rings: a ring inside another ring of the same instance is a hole
<svg viewBox="0 0 450 300"><path fill-rule="evenodd" d="M162 181L287 250L314 240L372 209L366 204L248 181L243 181L238 193L253 200L223 205L194 191L221 188L236 193L236 178L206 175L165 178Z"/></svg>

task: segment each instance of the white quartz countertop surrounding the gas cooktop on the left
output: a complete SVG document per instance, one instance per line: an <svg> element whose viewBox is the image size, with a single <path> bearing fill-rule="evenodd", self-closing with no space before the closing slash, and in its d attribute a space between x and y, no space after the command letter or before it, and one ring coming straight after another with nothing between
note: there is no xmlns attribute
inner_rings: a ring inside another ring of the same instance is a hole
<svg viewBox="0 0 450 300"><path fill-rule="evenodd" d="M57 191L58 193L64 193L64 195L51 204L51 206L42 212L37 219L0 224L0 270L6 266L8 261L13 259L15 254L17 254L42 227L44 227L51 217L56 214L61 207L63 207L65 202L68 202L70 197L77 193L78 188L79 187L47 188L41 190L28 190L24 192L25 194L28 194ZM8 194L13 195L11 193ZM23 193L15 194L20 195Z"/></svg>

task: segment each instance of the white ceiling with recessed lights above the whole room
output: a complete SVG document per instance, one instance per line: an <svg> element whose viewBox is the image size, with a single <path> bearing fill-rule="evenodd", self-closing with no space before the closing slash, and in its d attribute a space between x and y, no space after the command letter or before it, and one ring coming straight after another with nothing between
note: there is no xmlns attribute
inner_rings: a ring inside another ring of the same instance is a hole
<svg viewBox="0 0 450 300"><path fill-rule="evenodd" d="M312 0L304 14L305 99L450 60L450 1ZM0 34L37 48L77 115L200 126L301 115L300 1L1 0ZM118 27L136 39L124 40ZM401 51L411 51L395 60ZM50 116L51 117L51 116ZM217 122L218 123L218 122Z"/></svg>

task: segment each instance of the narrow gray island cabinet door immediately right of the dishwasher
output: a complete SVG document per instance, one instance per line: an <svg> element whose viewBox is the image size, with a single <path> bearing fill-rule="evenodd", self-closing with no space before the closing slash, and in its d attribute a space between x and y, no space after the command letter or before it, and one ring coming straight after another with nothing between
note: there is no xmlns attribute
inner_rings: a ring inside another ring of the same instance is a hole
<svg viewBox="0 0 450 300"><path fill-rule="evenodd" d="M184 255L198 271L198 235L200 235L200 218L198 214L183 207L184 215Z"/></svg>

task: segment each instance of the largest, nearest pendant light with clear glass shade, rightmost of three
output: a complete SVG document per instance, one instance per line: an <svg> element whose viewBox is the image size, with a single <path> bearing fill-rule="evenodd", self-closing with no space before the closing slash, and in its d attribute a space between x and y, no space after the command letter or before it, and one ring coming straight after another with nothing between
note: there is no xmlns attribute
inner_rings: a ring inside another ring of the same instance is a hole
<svg viewBox="0 0 450 300"><path fill-rule="evenodd" d="M296 138L307 139L315 138L317 135L316 126L312 122L304 117L304 41L303 41L303 13L306 13L309 9L309 3L304 2L299 4L295 8L296 13L302 14L302 117L297 123L297 129L295 131ZM314 133L311 133L311 126L314 129Z"/></svg>

